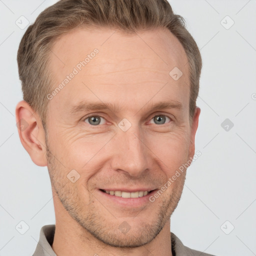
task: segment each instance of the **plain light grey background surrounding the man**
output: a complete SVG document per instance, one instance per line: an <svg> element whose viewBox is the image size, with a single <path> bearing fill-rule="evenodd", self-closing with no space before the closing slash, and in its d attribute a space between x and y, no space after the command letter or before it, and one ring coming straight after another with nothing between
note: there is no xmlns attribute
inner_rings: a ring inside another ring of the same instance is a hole
<svg viewBox="0 0 256 256"><path fill-rule="evenodd" d="M54 2L0 0L1 256L31 255L41 226L55 223L47 168L31 161L14 117L22 99L16 53L26 29L15 21L23 15L32 23ZM171 231L186 246L207 253L256 255L256 1L170 4L185 18L203 60L195 143L201 156L187 170ZM226 118L232 128L221 126ZM29 226L24 234L15 229L21 220Z"/></svg>

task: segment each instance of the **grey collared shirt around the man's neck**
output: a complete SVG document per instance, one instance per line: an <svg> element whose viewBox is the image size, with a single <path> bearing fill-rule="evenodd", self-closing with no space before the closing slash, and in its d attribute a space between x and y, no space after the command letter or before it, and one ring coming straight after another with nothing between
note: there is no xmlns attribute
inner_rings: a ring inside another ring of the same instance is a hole
<svg viewBox="0 0 256 256"><path fill-rule="evenodd" d="M33 256L56 256L52 250L51 245L54 238L55 225L44 225L40 230L39 241L33 253ZM172 232L171 237L171 250L172 256L214 256L198 250L190 249L183 245L179 238ZM59 255L61 256L61 255Z"/></svg>

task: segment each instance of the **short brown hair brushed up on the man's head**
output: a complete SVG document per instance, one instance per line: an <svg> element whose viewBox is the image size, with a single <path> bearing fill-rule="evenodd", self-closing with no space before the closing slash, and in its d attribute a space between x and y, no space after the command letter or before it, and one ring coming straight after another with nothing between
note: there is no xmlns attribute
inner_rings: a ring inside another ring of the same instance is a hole
<svg viewBox="0 0 256 256"><path fill-rule="evenodd" d="M28 26L17 52L23 99L39 114L43 124L47 117L46 95L52 90L49 52L57 38L78 26L109 27L130 34L169 29L182 44L189 63L191 121L199 90L201 55L184 19L173 13L167 0L60 0Z"/></svg>

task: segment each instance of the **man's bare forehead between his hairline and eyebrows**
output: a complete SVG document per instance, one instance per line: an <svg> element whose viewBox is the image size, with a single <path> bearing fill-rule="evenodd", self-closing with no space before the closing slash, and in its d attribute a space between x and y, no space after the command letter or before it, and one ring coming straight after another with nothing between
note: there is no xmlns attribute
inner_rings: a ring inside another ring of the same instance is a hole
<svg viewBox="0 0 256 256"><path fill-rule="evenodd" d="M52 89L63 85L50 104L71 107L92 96L101 101L115 97L125 106L127 98L144 98L144 104L153 95L154 99L166 96L188 104L187 57L168 29L134 34L106 28L74 29L54 43L49 66ZM173 79L171 70L180 70L181 77ZM76 74L67 77L71 73Z"/></svg>

